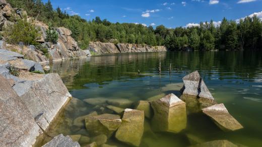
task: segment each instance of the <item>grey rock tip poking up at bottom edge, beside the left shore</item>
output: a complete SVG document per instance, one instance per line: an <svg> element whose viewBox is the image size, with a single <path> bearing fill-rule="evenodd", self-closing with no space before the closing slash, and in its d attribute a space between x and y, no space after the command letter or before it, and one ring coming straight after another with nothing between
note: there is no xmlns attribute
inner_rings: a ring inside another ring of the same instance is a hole
<svg viewBox="0 0 262 147"><path fill-rule="evenodd" d="M78 142L74 142L70 136L60 134L44 144L43 147L80 147L80 144Z"/></svg>

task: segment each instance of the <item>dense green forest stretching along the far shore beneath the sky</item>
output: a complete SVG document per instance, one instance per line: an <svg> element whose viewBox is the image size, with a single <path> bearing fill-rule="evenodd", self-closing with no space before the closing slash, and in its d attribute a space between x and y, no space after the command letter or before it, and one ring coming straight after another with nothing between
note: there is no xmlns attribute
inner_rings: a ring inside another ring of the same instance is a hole
<svg viewBox="0 0 262 147"><path fill-rule="evenodd" d="M220 26L213 21L201 22L195 27L153 28L134 23L111 23L96 17L87 21L78 15L70 16L59 7L54 9L50 1L8 0L13 8L22 8L30 17L51 24L51 27L65 27L72 31L72 37L82 49L90 41L112 43L136 43L152 46L165 45L170 50L262 50L262 21L246 17L238 23L224 18Z"/></svg>

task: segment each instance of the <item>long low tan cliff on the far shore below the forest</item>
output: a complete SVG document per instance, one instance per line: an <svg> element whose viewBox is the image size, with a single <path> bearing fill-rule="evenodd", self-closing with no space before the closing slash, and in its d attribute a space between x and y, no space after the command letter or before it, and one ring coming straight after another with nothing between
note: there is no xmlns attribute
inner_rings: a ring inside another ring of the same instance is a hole
<svg viewBox="0 0 262 147"><path fill-rule="evenodd" d="M96 53L122 53L122 52L163 52L168 51L165 46L150 46L127 43L91 42L89 48Z"/></svg>

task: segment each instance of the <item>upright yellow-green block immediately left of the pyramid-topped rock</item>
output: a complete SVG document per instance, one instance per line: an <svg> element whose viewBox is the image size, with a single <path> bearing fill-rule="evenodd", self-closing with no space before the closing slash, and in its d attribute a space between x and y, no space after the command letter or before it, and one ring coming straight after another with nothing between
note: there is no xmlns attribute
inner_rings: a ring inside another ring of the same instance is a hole
<svg viewBox="0 0 262 147"><path fill-rule="evenodd" d="M127 144L139 146L144 133L144 118L144 111L125 109L115 137Z"/></svg>

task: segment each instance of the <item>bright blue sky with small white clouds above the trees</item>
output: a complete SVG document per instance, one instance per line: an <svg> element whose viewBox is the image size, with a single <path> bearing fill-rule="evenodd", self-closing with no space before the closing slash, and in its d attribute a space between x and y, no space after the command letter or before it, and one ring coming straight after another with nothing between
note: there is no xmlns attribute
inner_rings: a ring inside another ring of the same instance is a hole
<svg viewBox="0 0 262 147"><path fill-rule="evenodd" d="M51 0L51 3L53 8L59 6L68 14L86 20L99 16L113 23L139 23L153 27L185 27L210 20L216 25L223 17L238 20L254 13L262 19L262 0Z"/></svg>

